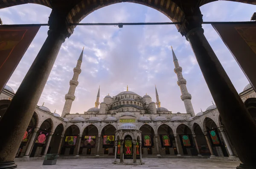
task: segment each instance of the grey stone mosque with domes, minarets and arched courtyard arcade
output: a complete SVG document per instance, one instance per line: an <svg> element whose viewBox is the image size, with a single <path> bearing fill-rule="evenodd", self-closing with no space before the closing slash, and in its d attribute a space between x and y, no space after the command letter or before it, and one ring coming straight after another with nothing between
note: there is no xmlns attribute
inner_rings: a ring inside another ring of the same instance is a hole
<svg viewBox="0 0 256 169"><path fill-rule="evenodd" d="M112 156L114 163L143 163L143 157L197 156L198 158L236 159L232 140L221 123L217 107L212 103L195 115L177 57L172 49L174 72L181 90L186 113L174 113L160 104L155 86L156 102L128 89L115 96L107 95L95 106L79 114L70 113L83 51L79 56L70 89L65 95L62 115L51 112L44 104L37 106L24 133L16 158L62 156ZM5 86L0 94L0 116L9 106L15 92ZM250 84L240 93L250 114L256 119L256 93Z"/></svg>

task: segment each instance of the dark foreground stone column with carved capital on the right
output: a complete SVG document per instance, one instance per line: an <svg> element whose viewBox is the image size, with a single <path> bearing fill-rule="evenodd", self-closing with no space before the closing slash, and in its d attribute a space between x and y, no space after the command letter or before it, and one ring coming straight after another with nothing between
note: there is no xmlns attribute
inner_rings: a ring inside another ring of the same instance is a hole
<svg viewBox="0 0 256 169"><path fill-rule="evenodd" d="M256 123L204 36L200 9L194 11L194 14L197 16L186 17L180 32L186 36L192 46L222 122L242 162L237 169L254 169L256 168L256 146L252 146L250 142L256 140Z"/></svg>

